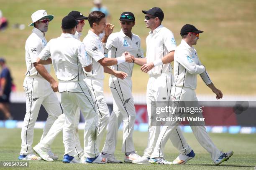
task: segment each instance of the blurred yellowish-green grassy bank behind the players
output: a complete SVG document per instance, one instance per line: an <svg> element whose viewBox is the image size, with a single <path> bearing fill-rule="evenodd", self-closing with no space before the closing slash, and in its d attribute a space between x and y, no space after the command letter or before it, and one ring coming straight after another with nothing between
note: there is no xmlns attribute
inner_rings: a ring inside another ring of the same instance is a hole
<svg viewBox="0 0 256 170"><path fill-rule="evenodd" d="M164 11L163 25L174 33L177 45L181 41L179 31L184 24L195 25L205 31L200 34L195 48L215 86L224 95L256 95L256 0L103 0L111 14L114 32L120 30L119 17L124 11L131 11L136 17L133 33L141 37L141 45L146 53L144 14L141 10L161 7ZM0 32L0 56L5 57L13 74L18 91L23 91L26 72L25 42L31 34L31 14L44 9L54 15L49 24L46 39L61 34L61 19L72 10L84 16L89 14L91 0L0 0L0 10L9 21L7 30ZM24 30L12 28L13 24L25 24ZM81 39L87 35L86 21ZM145 54L146 55L146 54ZM54 75L54 71L51 71ZM105 92L108 88L105 78ZM133 92L145 93L148 75L134 67ZM209 94L210 89L198 77L197 93Z"/></svg>

